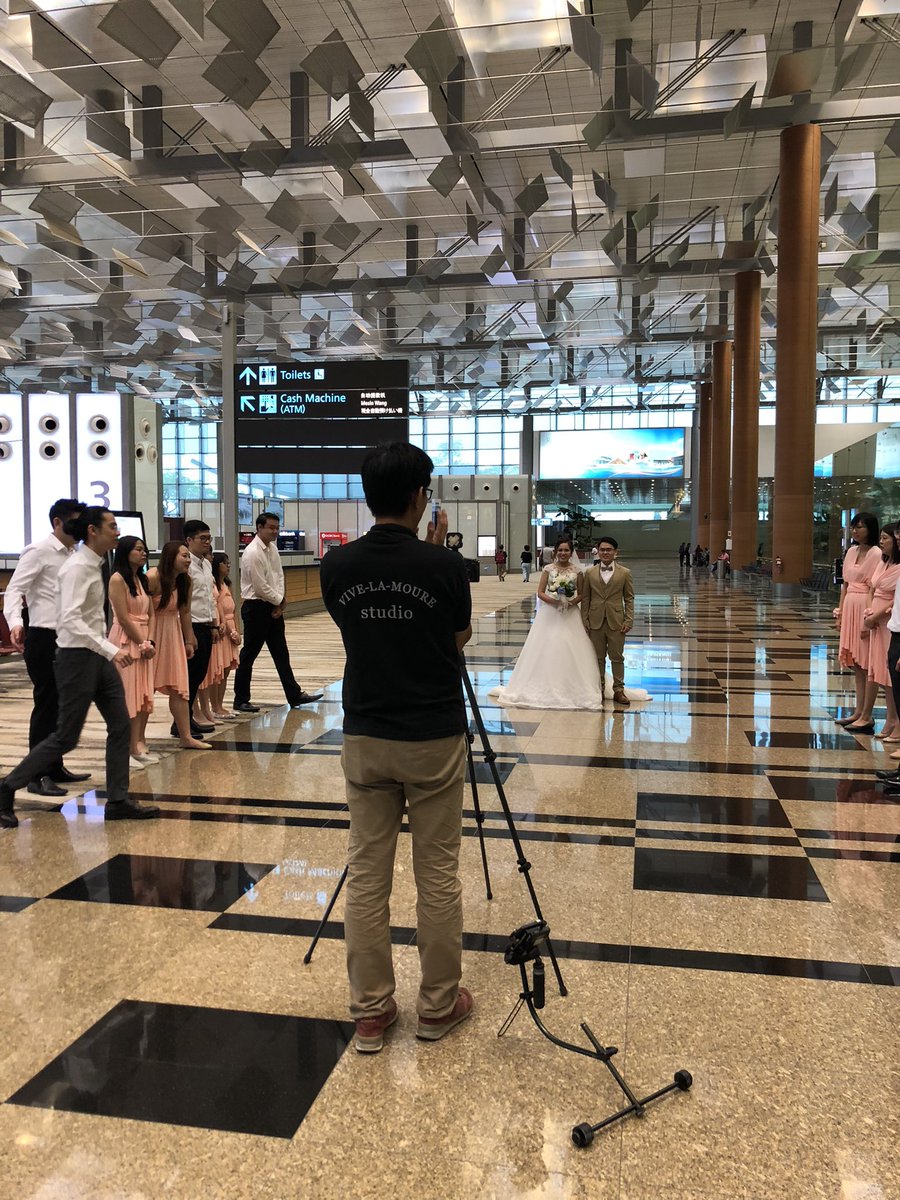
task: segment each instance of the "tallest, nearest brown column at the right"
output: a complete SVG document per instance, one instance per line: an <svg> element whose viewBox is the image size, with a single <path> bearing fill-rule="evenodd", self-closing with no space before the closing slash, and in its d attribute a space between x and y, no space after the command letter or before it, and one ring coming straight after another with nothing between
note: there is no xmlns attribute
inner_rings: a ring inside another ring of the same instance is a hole
<svg viewBox="0 0 900 1200"><path fill-rule="evenodd" d="M782 566L773 570L776 595L799 593L800 580L812 574L821 144L817 125L781 133L772 554Z"/></svg>

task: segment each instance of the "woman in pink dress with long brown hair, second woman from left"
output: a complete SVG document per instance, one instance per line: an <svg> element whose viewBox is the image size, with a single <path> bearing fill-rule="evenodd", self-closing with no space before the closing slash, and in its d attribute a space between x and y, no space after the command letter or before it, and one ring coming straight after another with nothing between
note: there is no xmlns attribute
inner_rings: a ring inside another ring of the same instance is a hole
<svg viewBox="0 0 900 1200"><path fill-rule="evenodd" d="M182 541L167 541L160 564L148 571L156 608L156 691L169 697L169 712L185 750L211 750L191 733L187 710L187 660L197 643L191 628L191 552Z"/></svg>

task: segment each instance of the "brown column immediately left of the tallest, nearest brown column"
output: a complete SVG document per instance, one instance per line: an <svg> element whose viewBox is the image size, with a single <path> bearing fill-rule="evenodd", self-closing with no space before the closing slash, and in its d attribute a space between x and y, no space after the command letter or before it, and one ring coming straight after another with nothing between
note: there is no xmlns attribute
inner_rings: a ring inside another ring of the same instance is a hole
<svg viewBox="0 0 900 1200"><path fill-rule="evenodd" d="M731 468L731 565L756 562L760 545L760 281L734 278L734 418Z"/></svg>

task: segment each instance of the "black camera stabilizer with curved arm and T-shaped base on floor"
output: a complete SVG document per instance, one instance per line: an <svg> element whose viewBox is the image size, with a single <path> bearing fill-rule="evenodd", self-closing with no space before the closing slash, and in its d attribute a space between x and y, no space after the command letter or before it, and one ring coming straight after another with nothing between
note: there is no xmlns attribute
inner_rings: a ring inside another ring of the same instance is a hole
<svg viewBox="0 0 900 1200"><path fill-rule="evenodd" d="M647 1105L652 1104L653 1100L658 1100L661 1096L667 1096L668 1092L686 1092L694 1080L690 1072L677 1070L671 1084L666 1084L665 1087L660 1087L649 1096L644 1096L643 1099L638 1099L629 1087L628 1081L619 1073L616 1063L612 1061L613 1056L619 1052L618 1046L602 1045L602 1043L600 1043L594 1036L594 1032L587 1021L581 1022L581 1028L584 1037L590 1043L590 1049L587 1046L577 1046L571 1042L563 1042L562 1038L551 1033L538 1015L538 1009L544 1008L545 998L544 962L540 956L540 949L544 944L546 944L550 949L550 942L547 941L548 936L550 929L546 922L540 920L534 922L532 925L522 925L520 929L516 929L510 934L509 946L506 947L504 959L506 962L518 967L522 976L522 991L520 992L512 1012L500 1026L497 1037L503 1037L518 1015L522 1004L526 1004L528 1007L528 1012L532 1014L532 1020L548 1042L552 1042L556 1046L560 1046L563 1050L571 1050L572 1054L581 1054L587 1058L596 1058L606 1067L618 1084L619 1088L624 1092L629 1103L624 1109L619 1109L617 1112L613 1112L612 1116L604 1117L604 1120L598 1121L596 1124L590 1124L590 1122L584 1121L581 1124L575 1126L572 1129L572 1141L576 1146L583 1148L590 1145L594 1140L594 1134L599 1133L600 1129L605 1129L606 1126L611 1126L616 1121L622 1121L623 1117L631 1116L632 1112L636 1117L644 1116ZM528 974L526 972L527 962L534 964L530 988L528 986Z"/></svg>

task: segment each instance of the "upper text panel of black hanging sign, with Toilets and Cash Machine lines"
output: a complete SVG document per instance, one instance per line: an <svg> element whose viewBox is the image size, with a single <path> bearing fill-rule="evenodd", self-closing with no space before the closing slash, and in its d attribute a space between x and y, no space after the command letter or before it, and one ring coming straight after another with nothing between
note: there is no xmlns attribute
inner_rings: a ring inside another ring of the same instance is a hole
<svg viewBox="0 0 900 1200"><path fill-rule="evenodd" d="M234 396L239 427L242 421L271 418L406 420L409 364L398 359L240 362L234 371Z"/></svg>

